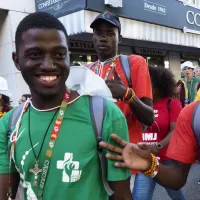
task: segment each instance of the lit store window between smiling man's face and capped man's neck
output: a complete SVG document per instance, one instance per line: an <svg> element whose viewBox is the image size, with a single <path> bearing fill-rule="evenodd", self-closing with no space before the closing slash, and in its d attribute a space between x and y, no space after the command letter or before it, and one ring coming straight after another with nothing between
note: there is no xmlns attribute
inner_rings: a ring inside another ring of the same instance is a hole
<svg viewBox="0 0 200 200"><path fill-rule="evenodd" d="M98 60L97 55L84 55L84 54L71 54L70 55L70 62L71 66L85 66L91 62L95 62Z"/></svg>

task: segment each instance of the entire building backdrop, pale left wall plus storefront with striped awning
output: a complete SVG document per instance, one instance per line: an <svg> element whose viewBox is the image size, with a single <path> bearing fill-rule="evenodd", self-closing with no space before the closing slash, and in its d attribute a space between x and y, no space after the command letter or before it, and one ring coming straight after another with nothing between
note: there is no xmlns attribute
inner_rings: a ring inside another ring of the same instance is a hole
<svg viewBox="0 0 200 200"><path fill-rule="evenodd" d="M69 35L71 64L97 60L91 22L102 11L120 17L119 54L139 54L180 78L180 64L200 65L200 0L7 0L0 1L0 76L8 80L13 105L29 89L12 61L15 31L28 13L49 12L60 19Z"/></svg>

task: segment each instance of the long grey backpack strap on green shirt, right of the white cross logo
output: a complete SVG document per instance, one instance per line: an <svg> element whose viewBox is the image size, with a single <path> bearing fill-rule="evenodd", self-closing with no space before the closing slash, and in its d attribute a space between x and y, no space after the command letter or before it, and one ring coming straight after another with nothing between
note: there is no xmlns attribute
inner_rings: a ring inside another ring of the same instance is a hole
<svg viewBox="0 0 200 200"><path fill-rule="evenodd" d="M90 114L98 146L99 142L102 141L102 127L103 127L103 120L106 114L106 100L98 96L90 97ZM107 180L106 159L105 155L103 154L102 148L100 148L99 146L98 146L98 156L101 165L101 174L102 174L104 188L107 194L111 196L114 194L114 192L110 188Z"/></svg>

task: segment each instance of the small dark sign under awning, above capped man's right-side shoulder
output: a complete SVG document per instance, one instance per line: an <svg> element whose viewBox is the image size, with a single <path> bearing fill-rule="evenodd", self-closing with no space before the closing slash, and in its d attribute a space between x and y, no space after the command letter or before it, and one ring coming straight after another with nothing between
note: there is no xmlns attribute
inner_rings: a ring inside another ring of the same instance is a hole
<svg viewBox="0 0 200 200"><path fill-rule="evenodd" d="M149 48L134 48L136 54L140 55L151 55L151 56L166 56L167 51L160 49L149 49Z"/></svg>

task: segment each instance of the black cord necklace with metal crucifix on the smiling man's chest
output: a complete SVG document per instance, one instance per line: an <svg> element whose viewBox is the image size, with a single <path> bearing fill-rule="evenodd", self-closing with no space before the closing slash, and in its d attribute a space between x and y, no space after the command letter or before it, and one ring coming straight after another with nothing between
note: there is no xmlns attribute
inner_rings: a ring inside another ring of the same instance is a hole
<svg viewBox="0 0 200 200"><path fill-rule="evenodd" d="M47 136L47 133L48 133L48 130L53 122L53 119L55 118L56 114L58 113L58 109L57 111L54 113L48 127L47 127L47 130L45 132L45 135L44 135L44 138L42 140L42 144L40 146L40 150L39 150L39 153L38 155L36 156L36 153L35 153L35 150L33 148L33 142L32 142L32 138L31 138L31 128L30 128L30 107L29 107L29 114L28 114L28 133L29 133L29 139L30 139L30 143L31 143L31 147L32 147L32 150L33 150L33 155L35 157L35 165L34 165L34 168L33 169L30 169L29 172L33 173L34 174L34 182L33 182L33 186L37 186L37 178L38 178L38 174L42 172L42 169L39 168L39 157L40 157L40 154L41 154L41 151L42 151L42 147L43 147L43 144L44 144L44 141L45 141L45 138Z"/></svg>

